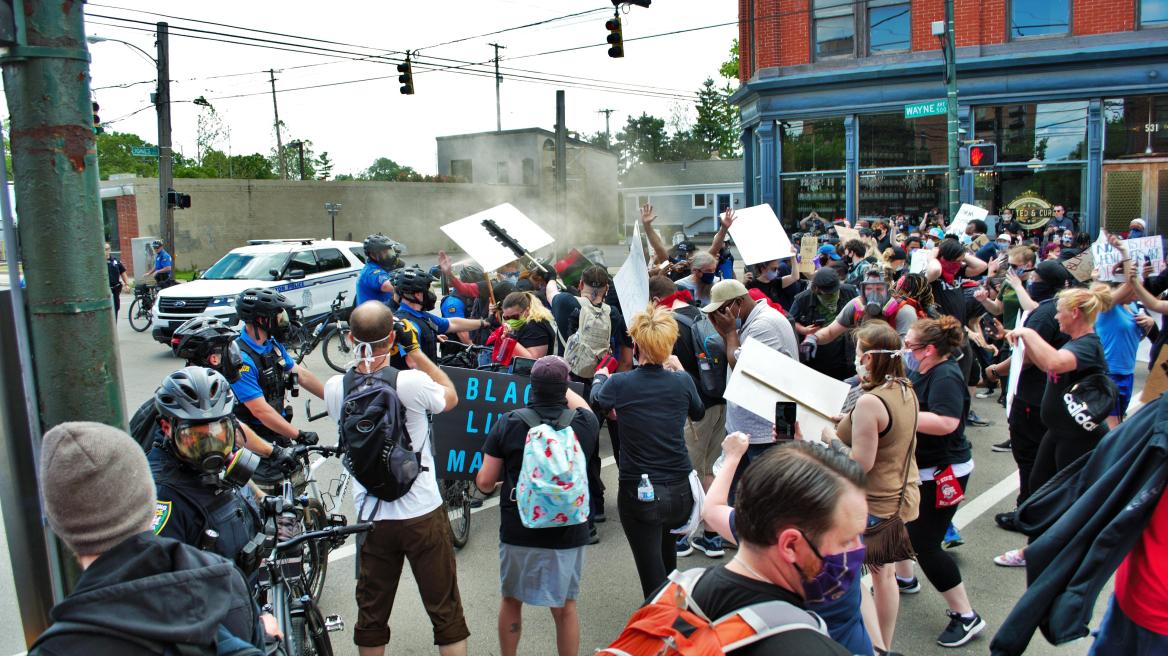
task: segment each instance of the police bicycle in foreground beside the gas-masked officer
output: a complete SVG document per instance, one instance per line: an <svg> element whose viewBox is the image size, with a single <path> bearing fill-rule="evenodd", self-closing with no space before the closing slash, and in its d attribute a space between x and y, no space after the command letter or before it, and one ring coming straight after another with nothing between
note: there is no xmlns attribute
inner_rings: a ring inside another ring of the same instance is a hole
<svg viewBox="0 0 1168 656"><path fill-rule="evenodd" d="M304 559L313 545L343 544L348 536L373 530L371 523L329 525L320 530L298 530L303 497L293 497L292 482L284 481L280 496L262 500L264 532L244 547L244 556L260 558L256 601L264 613L276 617L284 635L285 656L333 656L332 631L343 630L339 615L324 615L318 596L310 592ZM343 517L341 517L343 521ZM288 535L291 533L291 535ZM280 537L285 537L279 542Z"/></svg>

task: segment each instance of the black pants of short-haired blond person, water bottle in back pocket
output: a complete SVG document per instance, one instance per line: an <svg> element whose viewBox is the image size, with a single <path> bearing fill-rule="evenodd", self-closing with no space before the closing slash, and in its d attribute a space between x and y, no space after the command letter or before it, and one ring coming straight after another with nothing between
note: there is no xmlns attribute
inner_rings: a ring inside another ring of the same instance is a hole
<svg viewBox="0 0 1168 656"><path fill-rule="evenodd" d="M617 509L625 538L633 551L637 575L644 596L661 587L669 572L677 568L677 539L669 533L689 522L694 510L694 493L689 479L674 483L653 483L653 501L639 501L640 481L620 481Z"/></svg>

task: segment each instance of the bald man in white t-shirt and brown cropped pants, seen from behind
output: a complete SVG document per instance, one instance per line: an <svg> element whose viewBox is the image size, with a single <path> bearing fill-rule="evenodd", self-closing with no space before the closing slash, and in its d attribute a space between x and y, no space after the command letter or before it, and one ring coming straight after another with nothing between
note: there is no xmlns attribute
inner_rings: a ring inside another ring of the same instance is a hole
<svg viewBox="0 0 1168 656"><path fill-rule="evenodd" d="M450 518L443 510L438 480L434 477L433 441L426 413L437 414L454 407L454 384L422 354L413 332L395 330L394 314L380 301L366 301L349 317L350 340L357 346L357 374L373 374L389 367L389 356L398 346L415 369L397 372L396 391L405 407L405 427L415 451L422 452L422 472L410 490L396 501L382 501L366 494L353 480L353 504L360 521L374 522L357 546L357 623L353 642L361 656L382 656L389 644L389 615L394 607L404 560L415 572L418 592L433 624L434 644L442 656L466 656L471 635L458 591L458 567L450 540ZM398 334L401 333L401 335ZM399 342L398 342L399 340ZM341 418L345 376L325 383L325 403L333 421Z"/></svg>

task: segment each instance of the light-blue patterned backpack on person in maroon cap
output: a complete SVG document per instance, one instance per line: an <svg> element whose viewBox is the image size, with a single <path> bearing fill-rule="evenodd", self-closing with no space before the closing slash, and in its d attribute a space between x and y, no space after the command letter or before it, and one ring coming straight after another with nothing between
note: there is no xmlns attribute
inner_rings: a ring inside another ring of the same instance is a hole
<svg viewBox="0 0 1168 656"><path fill-rule="evenodd" d="M564 410L555 424L548 424L530 407L516 410L515 414L528 427L514 491L520 521L528 529L588 522L588 461L571 427L576 411Z"/></svg>

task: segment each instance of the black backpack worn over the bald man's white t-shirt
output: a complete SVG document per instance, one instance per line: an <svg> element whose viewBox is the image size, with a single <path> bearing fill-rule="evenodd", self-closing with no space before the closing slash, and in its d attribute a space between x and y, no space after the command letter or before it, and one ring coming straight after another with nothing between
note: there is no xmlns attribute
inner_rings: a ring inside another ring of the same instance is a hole
<svg viewBox="0 0 1168 656"><path fill-rule="evenodd" d="M341 462L353 477L380 501L405 496L423 467L422 449L413 452L405 427L397 370L387 367L374 374L357 374L350 369L345 374L345 400L338 424L345 449Z"/></svg>

